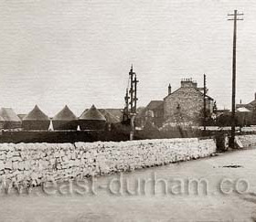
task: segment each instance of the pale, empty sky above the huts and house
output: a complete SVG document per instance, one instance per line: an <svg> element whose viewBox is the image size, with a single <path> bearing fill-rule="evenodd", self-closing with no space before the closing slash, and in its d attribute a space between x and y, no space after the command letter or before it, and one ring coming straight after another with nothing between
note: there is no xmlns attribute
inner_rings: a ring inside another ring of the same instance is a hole
<svg viewBox="0 0 256 222"><path fill-rule="evenodd" d="M139 79L138 106L163 100L169 83L207 75L220 108L231 101L233 23L238 22L237 102L256 92L256 1L1 0L0 107L49 116L65 104L80 115L123 108L128 72Z"/></svg>

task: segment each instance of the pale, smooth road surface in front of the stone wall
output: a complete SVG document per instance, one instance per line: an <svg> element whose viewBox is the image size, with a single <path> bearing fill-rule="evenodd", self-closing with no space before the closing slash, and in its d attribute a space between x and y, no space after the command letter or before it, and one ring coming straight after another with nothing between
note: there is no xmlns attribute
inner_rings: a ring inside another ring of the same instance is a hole
<svg viewBox="0 0 256 222"><path fill-rule="evenodd" d="M82 183L2 194L0 221L256 221L256 149Z"/></svg>

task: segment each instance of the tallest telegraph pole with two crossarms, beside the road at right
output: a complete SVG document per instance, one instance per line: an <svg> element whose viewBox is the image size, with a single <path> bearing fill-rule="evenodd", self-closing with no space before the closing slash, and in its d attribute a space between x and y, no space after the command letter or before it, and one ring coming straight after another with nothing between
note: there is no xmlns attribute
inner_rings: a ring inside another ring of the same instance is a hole
<svg viewBox="0 0 256 222"><path fill-rule="evenodd" d="M239 16L243 16L243 13L238 13L234 10L234 14L228 14L232 16L229 21L234 21L234 32L233 32L233 63L232 63L232 122L231 122L231 138L230 146L235 148L235 132L236 132L236 63L237 63L237 21L243 20Z"/></svg>

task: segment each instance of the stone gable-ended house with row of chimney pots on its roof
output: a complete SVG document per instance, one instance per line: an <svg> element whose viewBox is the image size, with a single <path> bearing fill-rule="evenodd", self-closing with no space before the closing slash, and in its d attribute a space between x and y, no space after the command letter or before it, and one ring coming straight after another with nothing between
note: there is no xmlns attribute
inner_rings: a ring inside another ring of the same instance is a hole
<svg viewBox="0 0 256 222"><path fill-rule="evenodd" d="M180 88L171 91L168 87L168 95L164 99L164 119L167 122L191 122L198 123L202 117L204 107L203 88L197 88L197 82L192 79L182 79ZM213 112L213 99L207 96L207 110Z"/></svg>

